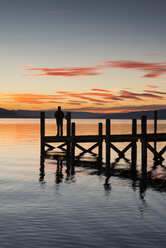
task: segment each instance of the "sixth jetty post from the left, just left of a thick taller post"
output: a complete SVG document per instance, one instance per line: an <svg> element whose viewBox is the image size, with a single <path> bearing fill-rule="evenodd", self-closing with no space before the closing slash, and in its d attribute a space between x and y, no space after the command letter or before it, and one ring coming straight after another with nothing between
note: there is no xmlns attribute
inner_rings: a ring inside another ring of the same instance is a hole
<svg viewBox="0 0 166 248"><path fill-rule="evenodd" d="M137 120L133 119L132 120L132 135L136 136L137 134ZM131 147L131 166L132 169L136 169L136 163L137 163L137 142L133 141L132 142L132 147Z"/></svg>

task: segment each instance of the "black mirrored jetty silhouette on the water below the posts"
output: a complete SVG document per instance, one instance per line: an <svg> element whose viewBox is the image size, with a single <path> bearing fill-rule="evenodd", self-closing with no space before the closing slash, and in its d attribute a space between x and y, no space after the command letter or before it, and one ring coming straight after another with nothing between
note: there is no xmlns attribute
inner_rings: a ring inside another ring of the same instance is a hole
<svg viewBox="0 0 166 248"><path fill-rule="evenodd" d="M48 156L47 156L48 158ZM84 161L75 161L74 163L71 163L71 161L63 161L63 158L57 158L54 159L55 161L55 183L60 184L63 181L67 181L68 183L75 182L75 168L81 167L81 168L88 168L88 175L96 175L101 176L103 175L104 184L103 187L106 191L106 194L109 195L111 191L111 179L113 177L121 178L122 180L130 180L131 181L131 188L133 191L139 190L139 196L141 199L145 198L145 192L147 190L147 187L151 187L159 192L166 192L166 178L164 177L156 177L152 176L152 172L154 168L152 168L151 171L147 173L140 173L137 171L136 167L128 167L124 166L124 168L116 168L112 167L110 170L110 173L106 172L105 168L98 167L98 166L92 166L91 164L84 163ZM159 166L159 165L158 165ZM156 165L154 165L156 169ZM95 168L95 169L94 169ZM164 169L166 169L164 167ZM41 163L40 165L40 174L39 174L39 181L43 182L45 177L45 164Z"/></svg>

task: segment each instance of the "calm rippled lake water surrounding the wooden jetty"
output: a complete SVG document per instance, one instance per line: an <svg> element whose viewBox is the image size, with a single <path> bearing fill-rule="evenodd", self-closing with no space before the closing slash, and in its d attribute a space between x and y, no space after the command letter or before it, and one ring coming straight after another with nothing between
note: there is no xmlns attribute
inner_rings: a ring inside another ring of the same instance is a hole
<svg viewBox="0 0 166 248"><path fill-rule="evenodd" d="M78 120L76 133L96 134L97 122ZM158 129L165 132L166 121ZM113 121L112 133L130 132L129 121ZM47 134L55 133L54 121L47 121ZM67 176L65 164L57 180L54 160L46 160L39 181L39 135L38 120L0 119L0 247L165 247L164 188L148 186L143 198L137 181L113 176L106 188L96 169L76 167ZM138 152L139 169L140 144ZM152 158L149 153L148 170ZM124 160L117 165L127 167ZM165 177L161 166L154 173Z"/></svg>

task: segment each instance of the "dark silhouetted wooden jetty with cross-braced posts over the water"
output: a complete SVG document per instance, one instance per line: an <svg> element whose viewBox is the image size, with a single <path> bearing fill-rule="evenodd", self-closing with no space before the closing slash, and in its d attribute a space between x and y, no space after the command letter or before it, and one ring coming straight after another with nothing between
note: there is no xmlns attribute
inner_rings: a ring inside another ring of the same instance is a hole
<svg viewBox="0 0 166 248"><path fill-rule="evenodd" d="M71 163L78 161L86 154L94 154L93 150L98 149L97 163L102 164L103 157L103 143L106 149L106 172L109 173L111 169L111 149L113 149L119 158L125 158L125 153L131 150L131 166L136 168L137 164L137 143L141 142L141 157L142 157L142 172L147 170L147 150L150 150L154 155L154 162L156 164L162 163L164 160L163 154L166 152L166 145L157 151L156 143L166 142L166 133L157 132L157 111L154 111L154 133L147 133L147 117L141 118L141 133L137 133L137 120L132 120L131 134L111 134L111 120L106 119L106 131L103 135L103 124L98 123L98 135L76 135L75 123L71 122L71 113L67 114L67 134L65 136L46 136L45 135L45 112L40 115L40 130L41 130L41 164L44 163L47 153L55 147L52 143L60 143L57 148L61 149L67 160ZM116 143L128 143L123 150L120 150ZM51 143L51 144L50 144ZM88 149L83 144L94 143ZM153 143L154 146L151 144ZM45 149L47 147L47 149ZM80 150L78 156L75 155L75 149Z"/></svg>

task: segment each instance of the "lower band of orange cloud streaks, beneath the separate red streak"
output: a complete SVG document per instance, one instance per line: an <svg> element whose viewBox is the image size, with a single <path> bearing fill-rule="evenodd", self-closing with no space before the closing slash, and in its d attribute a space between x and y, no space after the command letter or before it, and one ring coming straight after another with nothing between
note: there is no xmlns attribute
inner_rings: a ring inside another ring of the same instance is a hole
<svg viewBox="0 0 166 248"><path fill-rule="evenodd" d="M109 90L99 89L94 91L92 89L88 92L73 92L73 91L57 91L52 95L45 94L1 94L1 100L15 102L19 104L48 104L48 103L62 103L62 104L110 104L120 103L126 100L146 101L147 99L156 99L165 101L166 92L156 90L144 90L143 93L133 91L120 90L117 93L112 93Z"/></svg>

